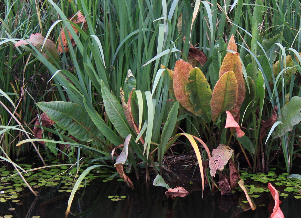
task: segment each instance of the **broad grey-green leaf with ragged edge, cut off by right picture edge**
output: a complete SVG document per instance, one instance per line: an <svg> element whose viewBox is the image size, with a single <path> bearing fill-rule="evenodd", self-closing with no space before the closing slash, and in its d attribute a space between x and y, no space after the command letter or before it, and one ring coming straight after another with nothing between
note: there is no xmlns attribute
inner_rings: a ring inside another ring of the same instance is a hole
<svg viewBox="0 0 301 218"><path fill-rule="evenodd" d="M294 96L291 98L290 103L281 108L281 116L277 121L283 124L278 125L272 134L273 138L283 136L287 131L293 130L293 126L301 121L301 98Z"/></svg>

